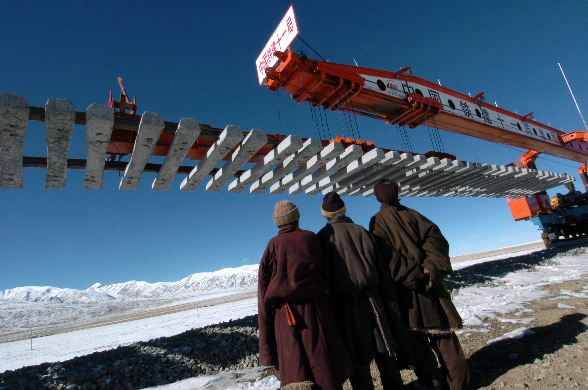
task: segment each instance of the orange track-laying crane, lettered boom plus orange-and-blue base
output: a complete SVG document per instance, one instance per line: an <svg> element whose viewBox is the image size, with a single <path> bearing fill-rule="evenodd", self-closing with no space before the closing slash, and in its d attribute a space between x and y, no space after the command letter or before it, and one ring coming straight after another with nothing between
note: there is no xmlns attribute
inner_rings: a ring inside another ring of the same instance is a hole
<svg viewBox="0 0 588 390"><path fill-rule="evenodd" d="M579 174L588 190L588 133L563 133L534 120L485 103L484 92L473 97L415 77L410 67L396 72L328 61L311 60L304 52L275 51L280 62L265 69L263 84L271 91L288 92L296 103L308 102L325 110L346 111L415 128L429 125L483 140L529 149L510 164L533 168L540 153L582 163ZM588 234L588 194L575 191L553 197L545 191L509 199L515 220L531 219L543 230L546 243Z"/></svg>

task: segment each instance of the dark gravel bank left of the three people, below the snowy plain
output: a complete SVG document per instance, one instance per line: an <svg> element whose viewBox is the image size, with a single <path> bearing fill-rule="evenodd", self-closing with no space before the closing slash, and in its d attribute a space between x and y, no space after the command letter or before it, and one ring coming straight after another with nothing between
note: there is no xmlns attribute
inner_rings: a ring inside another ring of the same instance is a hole
<svg viewBox="0 0 588 390"><path fill-rule="evenodd" d="M0 374L0 390L142 389L257 367L257 315Z"/></svg>

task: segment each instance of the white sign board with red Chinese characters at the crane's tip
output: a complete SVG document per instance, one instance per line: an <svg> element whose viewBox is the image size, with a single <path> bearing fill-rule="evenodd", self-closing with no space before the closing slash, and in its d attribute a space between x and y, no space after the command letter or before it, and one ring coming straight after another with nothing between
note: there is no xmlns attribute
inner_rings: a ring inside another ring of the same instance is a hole
<svg viewBox="0 0 588 390"><path fill-rule="evenodd" d="M278 62L278 57L274 57L273 52L276 50L285 51L296 37L298 37L298 24L296 24L294 16L294 7L290 5L278 28L273 32L265 48L263 48L255 61L259 85L262 85L265 78L265 68L273 67Z"/></svg>

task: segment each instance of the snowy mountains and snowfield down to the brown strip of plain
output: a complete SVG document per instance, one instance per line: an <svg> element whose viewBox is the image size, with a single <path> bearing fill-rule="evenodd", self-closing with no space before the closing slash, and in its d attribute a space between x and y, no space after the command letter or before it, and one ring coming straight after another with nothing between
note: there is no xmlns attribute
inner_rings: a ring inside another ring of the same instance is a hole
<svg viewBox="0 0 588 390"><path fill-rule="evenodd" d="M195 273L179 282L131 282L86 290L16 287L0 291L0 342L33 330L43 336L132 318L133 313L196 307L197 301L232 295L257 285L258 265ZM206 305L206 303L203 303ZM173 311L173 310L168 310ZM155 314L155 313L153 313Z"/></svg>

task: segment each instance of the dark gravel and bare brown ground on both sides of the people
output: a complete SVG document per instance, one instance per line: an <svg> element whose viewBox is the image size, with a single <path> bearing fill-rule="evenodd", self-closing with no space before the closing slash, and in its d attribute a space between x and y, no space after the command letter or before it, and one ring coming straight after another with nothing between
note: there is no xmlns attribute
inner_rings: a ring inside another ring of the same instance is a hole
<svg viewBox="0 0 588 390"><path fill-rule="evenodd" d="M455 296L467 287L493 287L506 273L557 266L558 259L586 256L587 249L546 249L466 266L447 277L447 288ZM487 331L469 332L466 326L460 340L472 371L472 388L588 387L585 284L579 277L548 284L542 288L549 293L525 310L488 319ZM533 321L525 328L530 332L523 332L522 338L505 336L521 333L520 320L530 315ZM240 372L259 366L258 352L257 318L248 316L64 362L6 371L0 374L0 389L133 390L225 372L233 372L239 382ZM372 374L379 385L377 371ZM416 379L411 371L404 371L403 378L410 387Z"/></svg>

